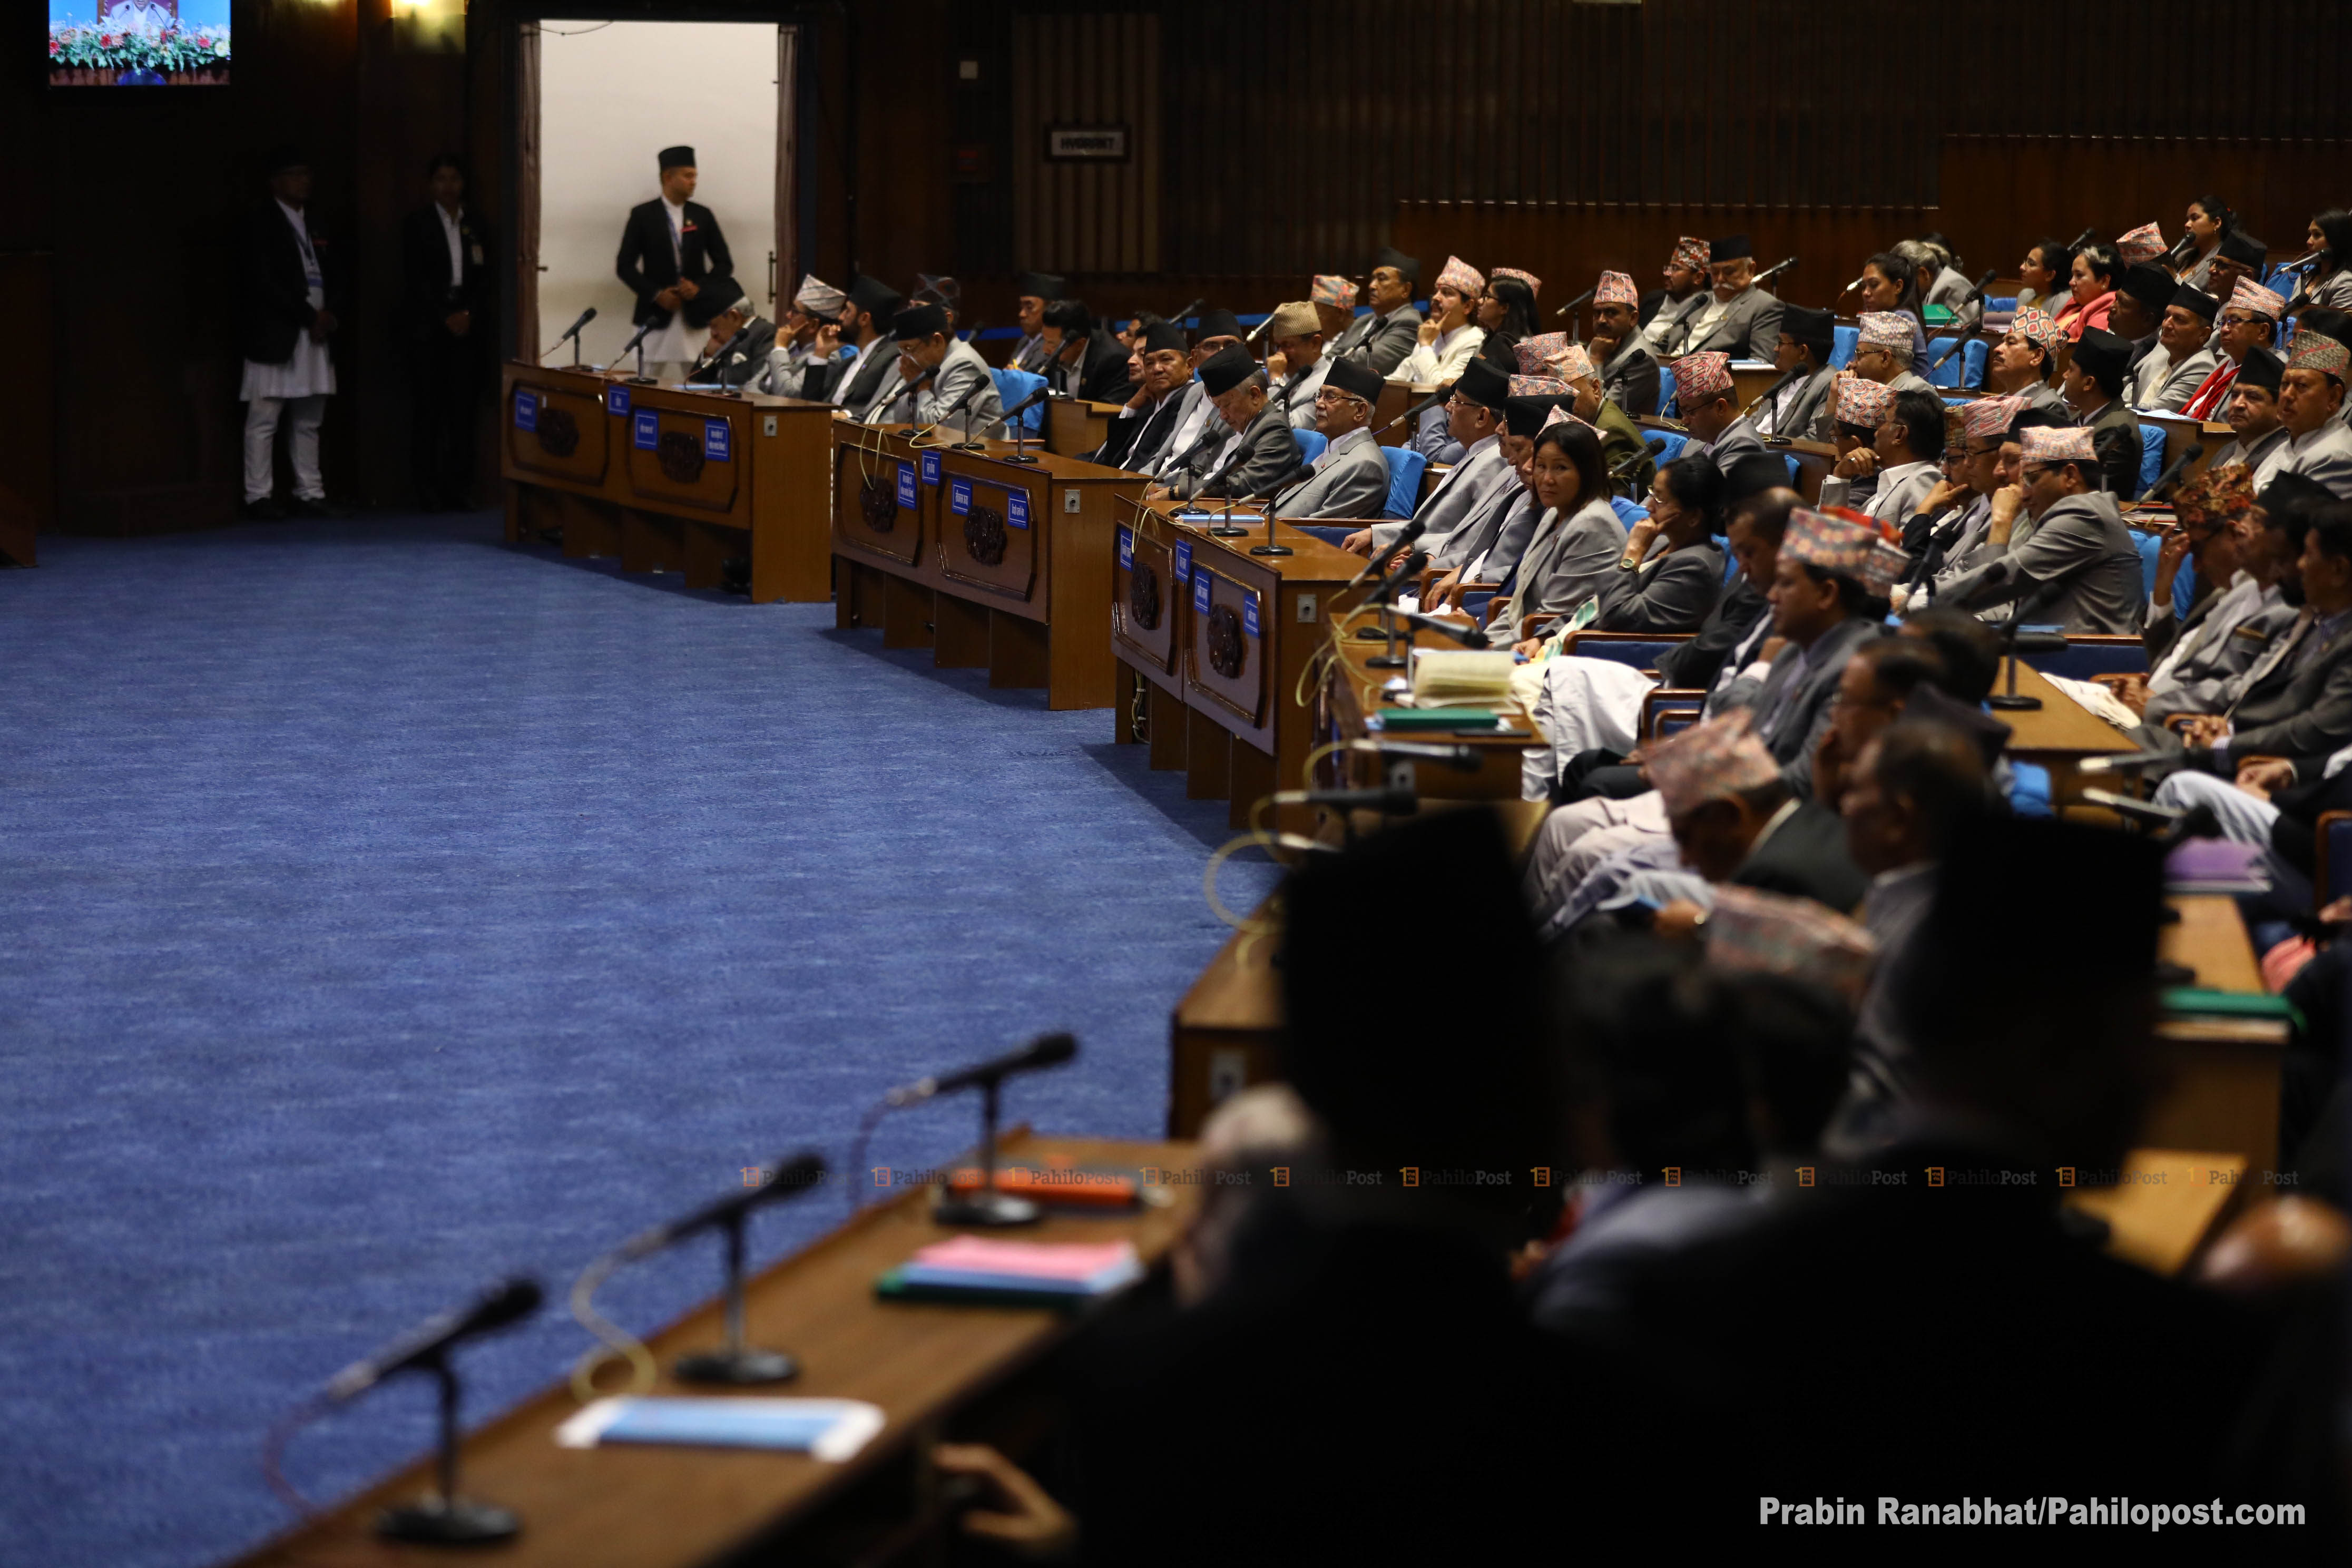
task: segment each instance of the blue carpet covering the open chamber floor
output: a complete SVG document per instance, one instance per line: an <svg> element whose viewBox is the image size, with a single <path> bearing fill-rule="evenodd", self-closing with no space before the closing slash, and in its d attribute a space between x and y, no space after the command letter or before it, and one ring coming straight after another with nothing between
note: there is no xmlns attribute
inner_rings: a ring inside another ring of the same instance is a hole
<svg viewBox="0 0 2352 1568"><path fill-rule="evenodd" d="M938 1065L1075 1030L1009 1117L1164 1126L1223 802L826 604L494 529L45 538L0 574L0 1561L282 1528L261 1436L325 1375L741 1166L840 1161ZM870 1164L974 1117L898 1114ZM767 1211L757 1258L842 1204ZM715 1284L703 1241L600 1302L649 1328ZM550 1309L475 1347L468 1422L583 1345ZM393 1385L289 1474L332 1497L428 1441Z"/></svg>

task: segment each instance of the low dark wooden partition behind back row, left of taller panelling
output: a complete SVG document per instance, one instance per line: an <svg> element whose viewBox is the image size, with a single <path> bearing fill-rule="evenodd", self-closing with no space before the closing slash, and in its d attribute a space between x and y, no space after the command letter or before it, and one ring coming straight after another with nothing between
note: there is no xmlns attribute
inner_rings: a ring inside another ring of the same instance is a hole
<svg viewBox="0 0 2352 1568"><path fill-rule="evenodd" d="M1936 228L1933 207L1635 207L1621 202L1397 202L1397 247L1421 256L1423 287L1446 256L1482 273L1515 266L1543 277L1543 329L1566 327L1552 313L1599 282L1630 273L1642 292L1679 235L1748 235L1757 268L1797 256L1766 287L1799 306L1828 308L1863 270L1863 261L1905 235ZM1590 322L1590 310L1583 313Z"/></svg>

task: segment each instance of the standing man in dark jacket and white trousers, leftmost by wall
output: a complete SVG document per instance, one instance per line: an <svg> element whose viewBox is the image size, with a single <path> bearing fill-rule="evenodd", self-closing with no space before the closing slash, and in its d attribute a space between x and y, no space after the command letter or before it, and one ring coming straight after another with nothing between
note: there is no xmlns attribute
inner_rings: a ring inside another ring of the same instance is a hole
<svg viewBox="0 0 2352 1568"><path fill-rule="evenodd" d="M343 280L310 228L310 165L292 146L270 155L270 200L245 223L242 339L245 515L261 520L329 517L318 473L318 425L334 395L334 336ZM280 505L278 425L292 433L294 501Z"/></svg>

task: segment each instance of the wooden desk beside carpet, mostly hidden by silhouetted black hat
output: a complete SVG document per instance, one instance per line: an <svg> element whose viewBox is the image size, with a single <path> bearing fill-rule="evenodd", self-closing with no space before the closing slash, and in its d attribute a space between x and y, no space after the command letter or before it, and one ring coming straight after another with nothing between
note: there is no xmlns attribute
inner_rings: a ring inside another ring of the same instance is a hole
<svg viewBox="0 0 2352 1568"><path fill-rule="evenodd" d="M1536 842L1536 830L1550 811L1531 799L1494 802L1494 809L1517 856ZM1169 1138L1197 1138L1202 1121L1232 1091L1277 1077L1279 893L1258 905L1249 924L1261 931L1235 931L1169 1016Z"/></svg>

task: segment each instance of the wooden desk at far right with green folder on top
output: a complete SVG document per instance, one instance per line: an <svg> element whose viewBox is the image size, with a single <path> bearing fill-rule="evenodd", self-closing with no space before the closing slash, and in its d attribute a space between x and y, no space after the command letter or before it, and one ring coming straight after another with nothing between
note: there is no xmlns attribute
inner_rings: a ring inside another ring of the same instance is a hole
<svg viewBox="0 0 2352 1568"><path fill-rule="evenodd" d="M2197 985L2209 990L2263 990L2263 969L2234 898L2176 893L2166 903L2180 919L2159 931L2159 957L2192 969ZM2253 1171L2274 1168L2286 1025L2270 1018L2166 1018L2157 1039L2166 1081L2147 1107L2140 1143L2227 1150Z"/></svg>

